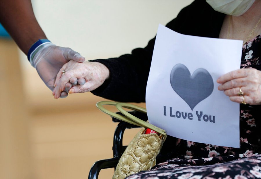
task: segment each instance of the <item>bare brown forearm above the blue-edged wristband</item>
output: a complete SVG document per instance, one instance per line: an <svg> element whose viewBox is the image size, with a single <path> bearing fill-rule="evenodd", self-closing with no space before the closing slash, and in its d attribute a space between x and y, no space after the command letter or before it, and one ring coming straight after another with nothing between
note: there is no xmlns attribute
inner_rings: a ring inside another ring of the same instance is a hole
<svg viewBox="0 0 261 179"><path fill-rule="evenodd" d="M1 0L0 22L25 54L38 39L46 39L30 0Z"/></svg>

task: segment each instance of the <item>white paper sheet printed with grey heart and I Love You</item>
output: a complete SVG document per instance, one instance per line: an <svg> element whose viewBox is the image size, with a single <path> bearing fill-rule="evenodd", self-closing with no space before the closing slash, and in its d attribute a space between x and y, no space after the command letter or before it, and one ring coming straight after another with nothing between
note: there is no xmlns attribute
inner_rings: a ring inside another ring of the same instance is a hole
<svg viewBox="0 0 261 179"><path fill-rule="evenodd" d="M196 37L160 25L146 89L149 122L168 135L239 148L239 103L217 79L240 68L242 41Z"/></svg>

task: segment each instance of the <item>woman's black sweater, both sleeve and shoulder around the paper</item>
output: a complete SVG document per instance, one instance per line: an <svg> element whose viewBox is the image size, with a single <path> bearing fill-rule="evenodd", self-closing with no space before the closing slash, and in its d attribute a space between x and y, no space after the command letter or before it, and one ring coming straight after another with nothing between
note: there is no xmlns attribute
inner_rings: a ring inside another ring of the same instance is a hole
<svg viewBox="0 0 261 179"><path fill-rule="evenodd" d="M205 0L195 0L183 8L166 27L178 33L218 38L225 15L213 10ZM92 91L97 96L121 102L145 102L145 92L155 38L145 48L118 58L92 60L110 70L110 79Z"/></svg>

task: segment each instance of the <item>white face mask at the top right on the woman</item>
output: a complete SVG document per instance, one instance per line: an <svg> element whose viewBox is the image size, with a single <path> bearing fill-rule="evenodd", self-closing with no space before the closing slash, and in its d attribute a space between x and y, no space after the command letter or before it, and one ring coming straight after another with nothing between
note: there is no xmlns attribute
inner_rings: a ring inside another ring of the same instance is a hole
<svg viewBox="0 0 261 179"><path fill-rule="evenodd" d="M244 14L255 0L206 0L216 11L224 14L240 16Z"/></svg>

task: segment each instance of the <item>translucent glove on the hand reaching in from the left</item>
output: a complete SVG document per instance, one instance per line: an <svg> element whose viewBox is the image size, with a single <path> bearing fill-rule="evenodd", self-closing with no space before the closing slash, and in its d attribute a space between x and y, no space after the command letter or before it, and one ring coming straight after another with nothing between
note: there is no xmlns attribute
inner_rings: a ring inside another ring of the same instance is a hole
<svg viewBox="0 0 261 179"><path fill-rule="evenodd" d="M30 56L30 63L50 90L54 89L55 78L61 67L70 60L84 62L85 58L70 48L56 46L50 42L39 45ZM61 98L68 96L61 92Z"/></svg>

